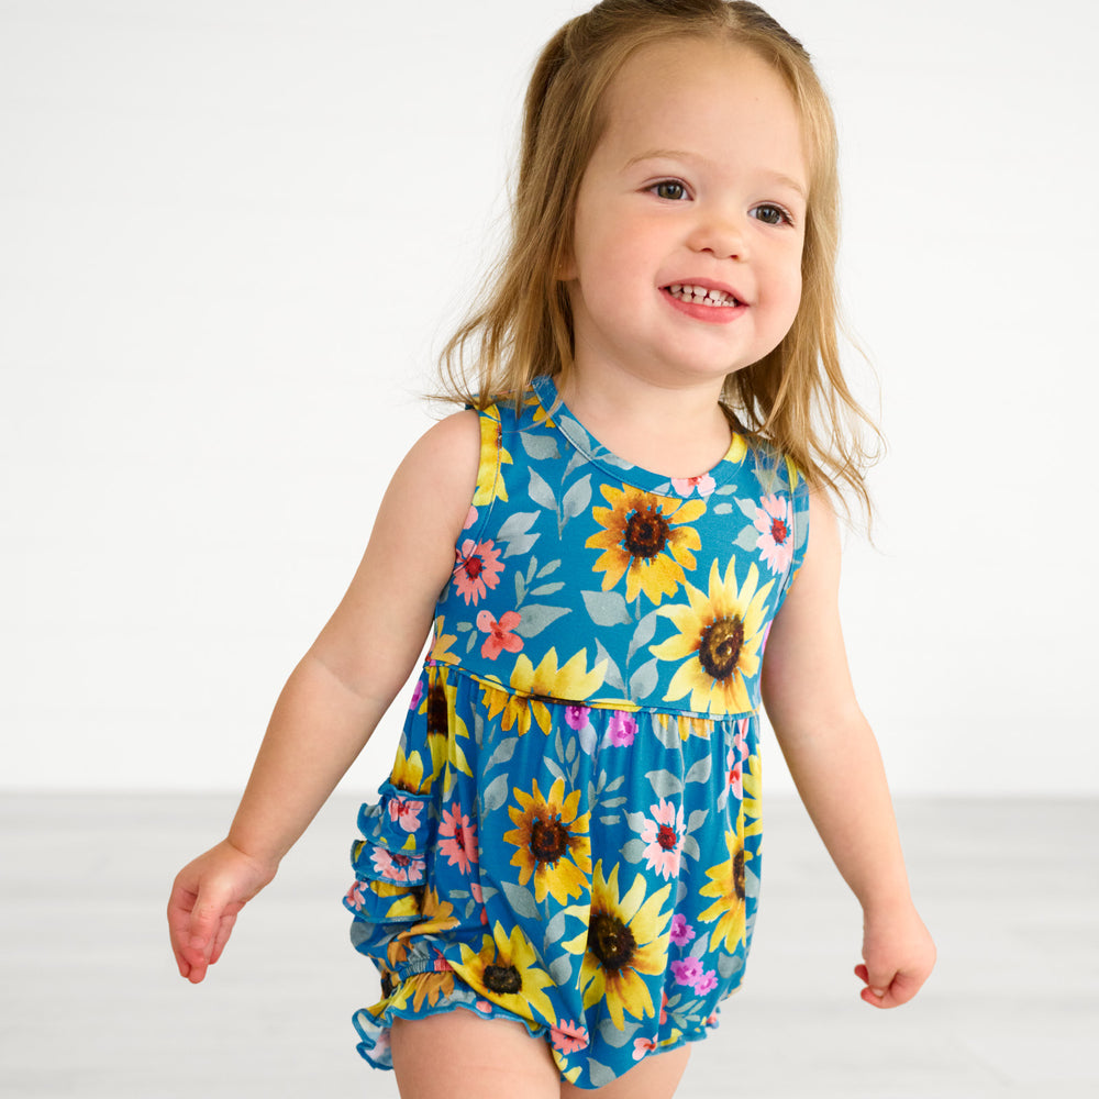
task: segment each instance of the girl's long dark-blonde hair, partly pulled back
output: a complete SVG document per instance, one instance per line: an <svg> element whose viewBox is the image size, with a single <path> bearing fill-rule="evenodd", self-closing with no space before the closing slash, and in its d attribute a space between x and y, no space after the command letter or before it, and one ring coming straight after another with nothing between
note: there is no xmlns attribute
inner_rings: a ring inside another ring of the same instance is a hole
<svg viewBox="0 0 1099 1099"><path fill-rule="evenodd" d="M793 98L809 162L797 317L774 351L725 378L723 404L736 430L770 441L813 488L842 499L846 485L869 514L864 470L873 455L858 428L880 436L840 365L835 123L801 43L754 3L603 0L550 40L526 91L510 245L442 352L445 397L485 408L504 396L518 401L540 375L567 377L571 308L558 273L570 256L580 180L606 126L604 92L635 51L670 36L742 45L769 64Z"/></svg>

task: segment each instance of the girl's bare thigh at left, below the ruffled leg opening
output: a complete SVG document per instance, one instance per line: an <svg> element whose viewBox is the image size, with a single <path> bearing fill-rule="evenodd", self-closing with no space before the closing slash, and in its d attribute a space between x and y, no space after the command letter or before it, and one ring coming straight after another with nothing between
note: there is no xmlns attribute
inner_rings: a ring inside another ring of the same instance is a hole
<svg viewBox="0 0 1099 1099"><path fill-rule="evenodd" d="M395 1019L390 1042L401 1099L558 1099L550 1046L510 1019Z"/></svg>

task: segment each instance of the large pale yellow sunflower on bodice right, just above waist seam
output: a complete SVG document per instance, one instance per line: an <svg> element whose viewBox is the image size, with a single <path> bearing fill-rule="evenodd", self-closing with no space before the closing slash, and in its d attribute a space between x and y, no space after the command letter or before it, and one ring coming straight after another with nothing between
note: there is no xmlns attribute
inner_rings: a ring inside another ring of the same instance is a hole
<svg viewBox="0 0 1099 1099"><path fill-rule="evenodd" d="M685 582L689 602L660 608L659 613L671 619L679 633L651 645L650 652L662 660L690 657L671 677L665 701L689 693L692 710L743 713L752 709L744 680L759 670L764 606L775 581L757 588L759 571L753 565L737 590L735 564L735 559L729 563L722 578L713 563L708 596Z"/></svg>

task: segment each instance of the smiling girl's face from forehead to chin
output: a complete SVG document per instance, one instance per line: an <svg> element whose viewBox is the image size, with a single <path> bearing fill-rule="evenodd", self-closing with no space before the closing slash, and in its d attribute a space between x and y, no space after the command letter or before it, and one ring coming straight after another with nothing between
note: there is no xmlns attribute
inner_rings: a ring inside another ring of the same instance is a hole
<svg viewBox="0 0 1099 1099"><path fill-rule="evenodd" d="M793 101L755 54L695 40L639 51L606 108L564 271L577 369L718 384L798 311L808 173Z"/></svg>

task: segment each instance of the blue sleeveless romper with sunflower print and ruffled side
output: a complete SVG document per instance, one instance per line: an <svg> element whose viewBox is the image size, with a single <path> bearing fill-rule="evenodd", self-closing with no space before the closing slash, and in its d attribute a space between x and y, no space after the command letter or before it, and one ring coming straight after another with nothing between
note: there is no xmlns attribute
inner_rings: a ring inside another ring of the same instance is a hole
<svg viewBox="0 0 1099 1099"><path fill-rule="evenodd" d="M391 1068L395 1018L467 1010L598 1088L703 1037L740 987L759 670L807 489L740 435L699 477L630 465L550 378L480 423L431 651L352 850L352 940L381 974L358 1048Z"/></svg>

